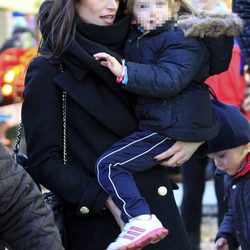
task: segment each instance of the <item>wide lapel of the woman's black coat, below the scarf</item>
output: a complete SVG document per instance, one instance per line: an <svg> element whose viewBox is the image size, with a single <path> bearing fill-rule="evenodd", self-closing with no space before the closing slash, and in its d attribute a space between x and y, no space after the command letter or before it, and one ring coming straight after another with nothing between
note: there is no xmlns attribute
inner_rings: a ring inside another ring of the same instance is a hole
<svg viewBox="0 0 250 250"><path fill-rule="evenodd" d="M84 83L66 70L54 81L83 109L119 136L127 136L136 129L136 122L124 104L104 84L98 84L86 71Z"/></svg>

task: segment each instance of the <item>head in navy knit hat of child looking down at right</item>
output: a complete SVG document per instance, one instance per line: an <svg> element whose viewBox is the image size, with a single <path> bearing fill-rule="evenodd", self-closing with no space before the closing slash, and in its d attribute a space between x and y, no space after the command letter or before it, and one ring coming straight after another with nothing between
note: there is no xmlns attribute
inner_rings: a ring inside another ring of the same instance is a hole
<svg viewBox="0 0 250 250"><path fill-rule="evenodd" d="M250 124L237 107L217 103L214 109L220 130L208 142L208 156L218 169L235 175L250 152Z"/></svg>

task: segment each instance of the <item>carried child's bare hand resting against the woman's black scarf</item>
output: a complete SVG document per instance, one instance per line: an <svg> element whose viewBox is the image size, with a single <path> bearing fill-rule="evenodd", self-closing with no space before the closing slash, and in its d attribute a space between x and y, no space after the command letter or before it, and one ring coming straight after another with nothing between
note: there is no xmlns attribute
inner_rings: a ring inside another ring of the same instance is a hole
<svg viewBox="0 0 250 250"><path fill-rule="evenodd" d="M109 68L110 71L115 76L118 77L122 74L123 66L113 56L105 52L100 52L100 53L94 54L94 58L100 61L100 64L102 66Z"/></svg>

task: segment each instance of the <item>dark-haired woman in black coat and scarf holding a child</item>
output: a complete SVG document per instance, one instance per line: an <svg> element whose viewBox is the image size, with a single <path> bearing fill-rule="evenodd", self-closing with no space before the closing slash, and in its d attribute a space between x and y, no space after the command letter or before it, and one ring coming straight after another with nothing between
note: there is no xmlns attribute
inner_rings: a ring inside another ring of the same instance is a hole
<svg viewBox="0 0 250 250"><path fill-rule="evenodd" d="M26 75L22 120L31 174L65 200L66 249L103 250L119 232L105 209L112 201L97 183L94 164L104 150L137 128L131 111L134 100L93 57L105 51L119 59L129 17L123 15L124 3L118 5L115 0L45 1L39 17L45 40L42 55L31 62ZM176 166L200 144L177 142L158 160L170 157L162 165ZM152 212L171 232L157 249L189 249L164 169L154 168L136 180Z"/></svg>

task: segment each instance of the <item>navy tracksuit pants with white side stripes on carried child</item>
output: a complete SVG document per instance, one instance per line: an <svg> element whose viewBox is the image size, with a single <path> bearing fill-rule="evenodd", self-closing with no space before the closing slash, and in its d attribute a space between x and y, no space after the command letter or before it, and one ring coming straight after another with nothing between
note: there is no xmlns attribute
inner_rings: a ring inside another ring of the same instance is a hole
<svg viewBox="0 0 250 250"><path fill-rule="evenodd" d="M133 175L156 166L154 157L173 143L165 135L137 131L111 146L96 162L98 181L121 210L125 222L138 215L151 214Z"/></svg>

